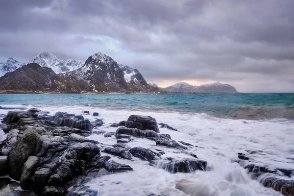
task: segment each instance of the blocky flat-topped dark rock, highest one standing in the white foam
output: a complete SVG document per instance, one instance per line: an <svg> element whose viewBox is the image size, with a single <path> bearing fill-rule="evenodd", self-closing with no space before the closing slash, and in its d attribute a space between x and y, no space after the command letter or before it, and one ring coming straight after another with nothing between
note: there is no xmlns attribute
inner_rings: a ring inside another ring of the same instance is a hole
<svg viewBox="0 0 294 196"><path fill-rule="evenodd" d="M153 130L159 133L156 120L152 117L131 115L125 123L127 128L138 128L141 130Z"/></svg>

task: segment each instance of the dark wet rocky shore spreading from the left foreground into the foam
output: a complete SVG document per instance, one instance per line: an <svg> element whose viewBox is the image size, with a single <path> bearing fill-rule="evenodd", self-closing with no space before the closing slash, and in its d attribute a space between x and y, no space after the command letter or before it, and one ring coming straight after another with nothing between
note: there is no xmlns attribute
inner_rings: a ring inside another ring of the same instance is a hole
<svg viewBox="0 0 294 196"><path fill-rule="evenodd" d="M94 127L103 125L100 119L90 122L84 119L84 115L66 112L50 115L36 108L9 111L2 118L2 129L7 137L0 143L0 175L4 175L0 183L9 183L13 179L19 182L22 190L36 195L97 195L96 191L83 184L101 173L107 175L133 170L128 165L112 161L113 156L126 160L137 157L154 166L160 162L162 168L171 173L205 171L207 166L206 161L185 151L189 144L179 144L170 135L161 134L152 117L131 115L126 121L113 124L118 127L117 131L104 134L104 137L117 139L117 144L112 146L86 138L95 134ZM163 150L129 147L127 143L136 138L180 150L191 158L163 159ZM110 156L101 156L100 152Z"/></svg>

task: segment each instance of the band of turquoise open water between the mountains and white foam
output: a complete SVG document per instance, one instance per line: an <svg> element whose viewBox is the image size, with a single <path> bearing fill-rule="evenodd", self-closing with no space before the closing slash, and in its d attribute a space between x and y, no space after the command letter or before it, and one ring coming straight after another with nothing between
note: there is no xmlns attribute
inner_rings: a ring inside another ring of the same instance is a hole
<svg viewBox="0 0 294 196"><path fill-rule="evenodd" d="M132 111L207 113L221 118L294 120L294 93L0 94L0 105L91 105Z"/></svg>

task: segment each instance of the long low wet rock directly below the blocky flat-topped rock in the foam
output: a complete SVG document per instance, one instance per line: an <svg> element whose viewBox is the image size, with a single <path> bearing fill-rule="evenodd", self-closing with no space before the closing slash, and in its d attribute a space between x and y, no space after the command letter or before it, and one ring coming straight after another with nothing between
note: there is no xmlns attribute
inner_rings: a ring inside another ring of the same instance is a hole
<svg viewBox="0 0 294 196"><path fill-rule="evenodd" d="M131 135L136 138L147 138L149 140L156 141L160 138L160 135L153 130L140 130L137 128L127 128L121 126L117 129L116 134Z"/></svg>

